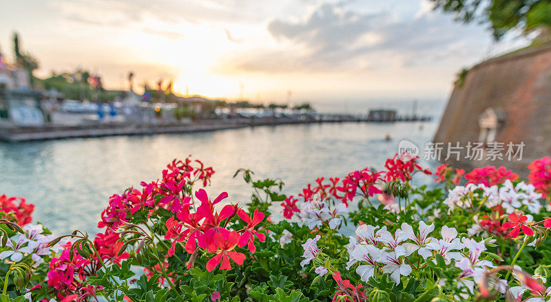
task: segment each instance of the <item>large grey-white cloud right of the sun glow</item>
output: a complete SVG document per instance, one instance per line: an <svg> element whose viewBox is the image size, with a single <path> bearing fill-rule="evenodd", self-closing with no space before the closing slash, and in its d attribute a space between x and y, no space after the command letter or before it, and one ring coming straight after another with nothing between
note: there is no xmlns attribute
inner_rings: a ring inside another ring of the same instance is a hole
<svg viewBox="0 0 551 302"><path fill-rule="evenodd" d="M391 12L353 10L344 2L324 3L300 19L274 19L267 30L285 47L231 54L222 60L222 69L339 72L438 65L458 54L468 58L479 55L487 41L483 30L430 13L423 3L417 14L402 20Z"/></svg>

